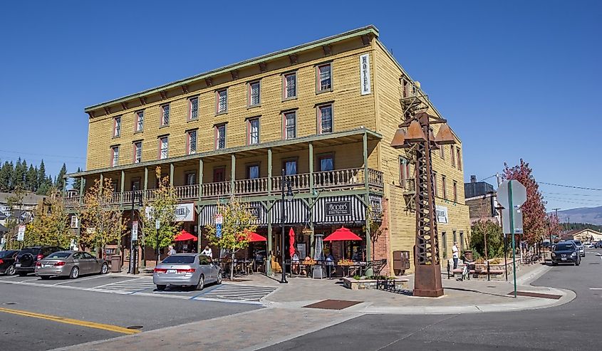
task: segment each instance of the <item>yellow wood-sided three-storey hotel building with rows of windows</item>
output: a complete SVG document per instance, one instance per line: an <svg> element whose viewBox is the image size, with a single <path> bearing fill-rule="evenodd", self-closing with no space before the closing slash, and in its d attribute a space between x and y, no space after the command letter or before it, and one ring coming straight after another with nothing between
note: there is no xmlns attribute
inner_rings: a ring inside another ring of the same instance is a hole
<svg viewBox="0 0 602 351"><path fill-rule="evenodd" d="M109 178L128 217L134 192L152 198L160 167L184 229L202 234L218 201L234 195L256 214L266 253L279 255L284 172L294 193L286 231L294 228L301 256L316 235L346 226L363 242L335 244L335 256L360 248L392 273L393 251L411 254L415 243L415 189L411 151L390 143L405 100L440 115L425 97L367 26L93 105L86 170L67 176L81 189L66 206L75 211L95 179ZM432 159L445 262L453 241L468 244L470 228L460 139ZM365 230L367 216L380 224L375 233Z"/></svg>

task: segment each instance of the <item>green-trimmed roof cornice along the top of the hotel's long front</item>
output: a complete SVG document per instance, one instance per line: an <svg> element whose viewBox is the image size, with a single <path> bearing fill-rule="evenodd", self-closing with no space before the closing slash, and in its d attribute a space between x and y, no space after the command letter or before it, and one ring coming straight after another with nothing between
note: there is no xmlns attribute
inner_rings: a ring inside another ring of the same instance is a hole
<svg viewBox="0 0 602 351"><path fill-rule="evenodd" d="M117 99L114 99L114 100L105 101L104 103L98 103L98 104L95 104L95 105L90 105L90 106L84 108L84 112L90 112L92 110L97 110L99 108L104 108L104 107L107 107L108 105L113 105L113 104L116 104L116 103L123 103L125 101L132 100L132 99L135 99L135 98L142 98L143 96L146 96L146 95L151 95L153 93L158 93L160 90L166 90L166 89L176 88L179 85L183 85L183 84L187 84L187 83L192 83L195 80L200 80L200 79L203 79L203 78L208 78L211 75L217 75L217 74L227 73L230 70L235 70L235 69L239 69L239 68L245 68L247 66L251 66L251 65L254 65L256 63L259 63L261 61L273 60L273 59L276 59L276 58L280 58L282 56L291 55L293 53L299 53L300 51L310 50L312 48L315 48L316 46L322 46L322 45L326 45L328 43L334 43L336 41L342 41L342 40L345 40L347 38L352 38L354 36L362 36L362 35L368 34L368 33L372 33L375 37L378 38L378 28L376 28L374 25L370 24L370 25L365 26L365 27L356 28L356 29L353 29L351 31L346 31L344 33L336 34L334 36L328 36L326 38L321 38L321 39L318 39L316 41L311 41L309 43L304 43L304 44L301 44L301 45L298 45L298 46L293 46L291 48L286 48L284 50L275 51L273 53L268 53L266 55L259 56L259 57L256 57L256 58L249 58L248 60L245 60L245 61L240 61L238 63L232 63L231 65L223 66L221 68L216 68L214 70L209 70L209 71L207 71L205 73L199 73L197 75L192 75L191 77L188 77L188 78L184 78L184 79L181 79L181 80L176 80L174 82L167 83L167 84L164 84L164 85L160 85L160 86L155 87L155 88L150 88L150 89L147 89L147 90L143 90L140 93L125 95L122 98L117 98Z"/></svg>

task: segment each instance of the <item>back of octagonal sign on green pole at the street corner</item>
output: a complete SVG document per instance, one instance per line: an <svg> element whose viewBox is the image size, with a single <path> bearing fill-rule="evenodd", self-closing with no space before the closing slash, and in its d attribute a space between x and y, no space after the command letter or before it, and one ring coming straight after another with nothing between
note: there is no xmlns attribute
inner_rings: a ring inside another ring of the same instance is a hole
<svg viewBox="0 0 602 351"><path fill-rule="evenodd" d="M497 201L504 206L504 209L509 210L508 224L510 227L510 235L512 236L512 271L514 272L514 298L517 298L517 249L514 239L515 225L514 221L515 209L519 209L521 204L526 201L526 188L517 180L505 180L497 187ZM503 214L502 214L503 216ZM522 222L522 219L521 219ZM513 224L513 225L510 225Z"/></svg>

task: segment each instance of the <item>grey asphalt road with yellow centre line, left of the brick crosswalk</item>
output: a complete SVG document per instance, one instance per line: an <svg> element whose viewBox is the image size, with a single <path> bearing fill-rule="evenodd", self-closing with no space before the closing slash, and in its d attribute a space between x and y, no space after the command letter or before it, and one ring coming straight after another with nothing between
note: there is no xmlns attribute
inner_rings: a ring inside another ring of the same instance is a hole
<svg viewBox="0 0 602 351"><path fill-rule="evenodd" d="M0 281L7 279L24 283L0 283L2 351L49 350L125 335L128 330L123 328L131 326L153 330L259 308L258 305L190 299L187 296L192 298L199 292L188 290L167 291L157 297L78 290L131 281L120 276L90 276L75 281L2 276ZM77 289L58 288L63 285ZM175 298L170 298L170 293ZM57 317L71 320L57 320Z"/></svg>

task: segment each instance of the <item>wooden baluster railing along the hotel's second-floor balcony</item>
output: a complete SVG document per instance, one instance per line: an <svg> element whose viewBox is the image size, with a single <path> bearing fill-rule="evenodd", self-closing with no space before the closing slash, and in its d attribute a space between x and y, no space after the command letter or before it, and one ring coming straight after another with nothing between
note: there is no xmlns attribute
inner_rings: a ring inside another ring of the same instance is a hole
<svg viewBox="0 0 602 351"><path fill-rule="evenodd" d="M291 181L291 187L294 192L308 192L311 188L310 180L313 179L313 188L318 191L330 190L350 190L361 189L365 187L365 177L363 168L336 169L333 171L314 172L312 174L292 174L286 176ZM271 189L269 188L271 185ZM368 169L368 187L370 189L383 189L383 172L375 169ZM229 197L231 194L239 196L254 196L268 194L269 192L278 193L282 189L282 178L264 177L255 179L239 179L234 181L234 191L232 191L232 182L214 182L201 185L183 185L174 187L177 199L180 201L199 199L199 192L202 192L202 199L217 199L220 197ZM141 190L144 199L152 201L156 196L156 189ZM134 192L115 192L111 198L111 204L131 204ZM68 197L64 199L66 207L73 208L81 203L81 197Z"/></svg>

